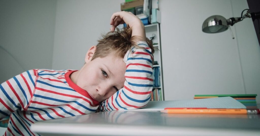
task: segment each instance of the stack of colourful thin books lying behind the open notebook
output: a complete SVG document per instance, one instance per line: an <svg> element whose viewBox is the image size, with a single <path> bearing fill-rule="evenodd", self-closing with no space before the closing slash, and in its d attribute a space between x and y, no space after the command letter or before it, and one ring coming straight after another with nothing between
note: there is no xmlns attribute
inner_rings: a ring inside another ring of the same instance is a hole
<svg viewBox="0 0 260 136"><path fill-rule="evenodd" d="M194 99L215 98L230 96L235 100L241 102L247 109L257 108L256 96L257 94L217 94L217 95L194 95Z"/></svg>

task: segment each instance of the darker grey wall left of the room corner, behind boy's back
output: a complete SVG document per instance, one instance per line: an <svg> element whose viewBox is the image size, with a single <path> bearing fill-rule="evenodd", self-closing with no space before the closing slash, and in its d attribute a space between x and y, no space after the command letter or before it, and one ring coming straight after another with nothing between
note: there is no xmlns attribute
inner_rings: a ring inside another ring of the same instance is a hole
<svg viewBox="0 0 260 136"><path fill-rule="evenodd" d="M51 68L56 0L0 1L0 82Z"/></svg>

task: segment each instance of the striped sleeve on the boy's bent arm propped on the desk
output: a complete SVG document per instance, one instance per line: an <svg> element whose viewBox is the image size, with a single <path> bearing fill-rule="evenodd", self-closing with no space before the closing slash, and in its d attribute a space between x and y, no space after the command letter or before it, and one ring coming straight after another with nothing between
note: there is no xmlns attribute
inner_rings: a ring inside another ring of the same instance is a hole
<svg viewBox="0 0 260 136"><path fill-rule="evenodd" d="M145 41L137 42L139 47L133 47L127 52L126 81L124 87L118 90L100 105L101 111L137 109L146 106L150 101L153 89L153 55Z"/></svg>

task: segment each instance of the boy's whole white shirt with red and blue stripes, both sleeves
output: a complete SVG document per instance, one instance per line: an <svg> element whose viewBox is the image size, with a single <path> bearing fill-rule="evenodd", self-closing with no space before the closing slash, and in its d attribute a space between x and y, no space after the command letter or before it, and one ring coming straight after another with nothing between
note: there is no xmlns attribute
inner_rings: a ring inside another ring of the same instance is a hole
<svg viewBox="0 0 260 136"><path fill-rule="evenodd" d="M30 130L36 121L64 118L101 111L136 109L150 100L153 87L151 49L132 48L124 57L124 87L103 102L92 99L74 84L69 75L75 70L33 69L0 85L0 120L10 115L4 135L38 135Z"/></svg>

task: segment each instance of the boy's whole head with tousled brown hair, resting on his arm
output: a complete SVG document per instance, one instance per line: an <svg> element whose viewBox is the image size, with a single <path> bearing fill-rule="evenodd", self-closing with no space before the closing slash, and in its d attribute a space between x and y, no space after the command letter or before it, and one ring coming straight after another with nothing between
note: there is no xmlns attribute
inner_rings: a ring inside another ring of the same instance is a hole
<svg viewBox="0 0 260 136"><path fill-rule="evenodd" d="M102 35L85 57L84 66L78 71L76 84L97 101L103 101L124 87L126 63L123 57L134 43L131 29L117 29ZM147 43L154 52L149 39Z"/></svg>

